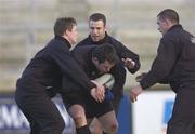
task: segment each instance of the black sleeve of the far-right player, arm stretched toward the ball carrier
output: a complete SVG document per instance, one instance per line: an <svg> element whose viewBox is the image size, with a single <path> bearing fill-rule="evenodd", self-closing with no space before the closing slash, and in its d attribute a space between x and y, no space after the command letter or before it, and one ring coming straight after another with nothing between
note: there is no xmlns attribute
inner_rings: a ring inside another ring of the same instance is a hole
<svg viewBox="0 0 195 134"><path fill-rule="evenodd" d="M141 86L147 89L155 83L162 83L171 72L176 59L177 53L173 41L161 39L157 56L148 73L141 80Z"/></svg>

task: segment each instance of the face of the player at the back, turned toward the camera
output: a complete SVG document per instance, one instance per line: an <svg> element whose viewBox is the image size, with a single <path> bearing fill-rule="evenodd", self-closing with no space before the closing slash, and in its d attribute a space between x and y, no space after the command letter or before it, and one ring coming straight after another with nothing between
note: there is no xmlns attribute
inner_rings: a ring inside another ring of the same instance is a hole
<svg viewBox="0 0 195 134"><path fill-rule="evenodd" d="M103 21L90 21L90 36L94 42L102 40L105 37L106 28Z"/></svg>

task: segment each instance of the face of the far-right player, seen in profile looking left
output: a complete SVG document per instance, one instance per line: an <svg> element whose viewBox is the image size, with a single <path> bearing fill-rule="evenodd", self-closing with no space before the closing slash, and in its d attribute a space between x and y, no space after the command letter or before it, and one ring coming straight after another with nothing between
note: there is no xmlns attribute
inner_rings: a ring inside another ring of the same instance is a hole
<svg viewBox="0 0 195 134"><path fill-rule="evenodd" d="M159 32L161 32L162 35L165 35L169 29L169 24L167 19L157 18L157 25L158 25Z"/></svg>

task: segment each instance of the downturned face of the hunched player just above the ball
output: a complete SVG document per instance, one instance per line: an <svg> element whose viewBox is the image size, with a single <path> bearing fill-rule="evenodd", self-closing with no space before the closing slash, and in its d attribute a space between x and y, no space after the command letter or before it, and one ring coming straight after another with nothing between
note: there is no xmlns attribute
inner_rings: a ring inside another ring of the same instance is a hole
<svg viewBox="0 0 195 134"><path fill-rule="evenodd" d="M99 61L95 64L96 69L101 73L109 72L114 64L110 64L109 62L105 61L104 63L99 63Z"/></svg>

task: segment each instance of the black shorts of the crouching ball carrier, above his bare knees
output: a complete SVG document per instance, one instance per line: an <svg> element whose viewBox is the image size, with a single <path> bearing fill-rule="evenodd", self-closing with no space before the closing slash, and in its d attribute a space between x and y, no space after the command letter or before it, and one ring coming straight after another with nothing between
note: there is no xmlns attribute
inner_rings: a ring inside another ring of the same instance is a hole
<svg viewBox="0 0 195 134"><path fill-rule="evenodd" d="M99 103L90 94L69 93L62 95L62 98L67 109L75 104L83 106L87 118L99 118L114 110L110 102L103 100Z"/></svg>

